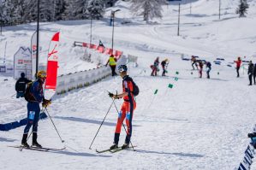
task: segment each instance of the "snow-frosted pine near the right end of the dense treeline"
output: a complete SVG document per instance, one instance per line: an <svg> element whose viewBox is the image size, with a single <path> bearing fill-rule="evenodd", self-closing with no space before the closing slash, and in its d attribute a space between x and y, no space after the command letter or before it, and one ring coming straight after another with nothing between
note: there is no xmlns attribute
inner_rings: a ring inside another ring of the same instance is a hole
<svg viewBox="0 0 256 170"><path fill-rule="evenodd" d="M104 15L104 3L104 0L89 0L86 15L92 17L92 19L99 20Z"/></svg>

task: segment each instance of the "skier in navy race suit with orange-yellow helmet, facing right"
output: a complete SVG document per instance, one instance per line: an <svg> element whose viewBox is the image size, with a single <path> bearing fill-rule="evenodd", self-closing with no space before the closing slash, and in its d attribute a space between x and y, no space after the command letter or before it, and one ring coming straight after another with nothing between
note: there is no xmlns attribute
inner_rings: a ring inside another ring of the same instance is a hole
<svg viewBox="0 0 256 170"><path fill-rule="evenodd" d="M43 93L43 85L46 79L46 73L41 70L37 73L37 80L32 82L30 88L27 89L27 126L25 126L23 137L21 140L21 145L24 147L29 147L27 144L27 134L31 126L33 126L33 138L32 146L41 148L42 146L38 143L38 122L40 115L39 104L43 101L43 107L46 108L51 104L50 100L46 100ZM28 88L28 87L27 87Z"/></svg>

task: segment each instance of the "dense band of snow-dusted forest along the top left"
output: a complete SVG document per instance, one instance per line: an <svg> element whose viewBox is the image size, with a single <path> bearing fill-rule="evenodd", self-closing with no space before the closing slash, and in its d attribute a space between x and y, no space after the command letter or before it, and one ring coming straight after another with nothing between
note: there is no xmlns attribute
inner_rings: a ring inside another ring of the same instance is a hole
<svg viewBox="0 0 256 170"><path fill-rule="evenodd" d="M40 21L100 19L104 9L116 0L0 0L0 23L21 24L37 20L40 5Z"/></svg>

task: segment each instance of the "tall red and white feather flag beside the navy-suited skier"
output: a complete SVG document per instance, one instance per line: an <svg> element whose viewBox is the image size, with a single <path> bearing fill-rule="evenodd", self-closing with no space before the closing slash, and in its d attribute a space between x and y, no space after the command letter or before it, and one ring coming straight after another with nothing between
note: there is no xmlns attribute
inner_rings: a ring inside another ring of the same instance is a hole
<svg viewBox="0 0 256 170"><path fill-rule="evenodd" d="M47 62L47 77L45 80L45 98L51 99L56 92L57 87L57 68L58 68L58 44L59 44L59 34L57 32L51 38L51 43L48 52L48 62Z"/></svg>

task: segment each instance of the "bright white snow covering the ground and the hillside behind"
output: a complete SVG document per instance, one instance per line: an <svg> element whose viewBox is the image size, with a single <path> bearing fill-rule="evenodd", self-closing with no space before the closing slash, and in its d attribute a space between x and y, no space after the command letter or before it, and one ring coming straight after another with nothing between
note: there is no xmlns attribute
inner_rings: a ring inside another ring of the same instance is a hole
<svg viewBox="0 0 256 170"><path fill-rule="evenodd" d="M182 4L181 36L176 36L177 5L164 6L163 20L150 25L132 16L128 3L119 2L114 9L115 48L125 54L140 56L139 67L129 66L129 74L140 87L137 108L134 112L132 143L137 151L123 150L110 154L97 154L95 149L106 149L113 142L116 126L116 108L110 109L92 149L88 149L98 126L104 119L111 99L106 91L122 91L119 77L104 79L95 85L72 91L54 98L48 108L65 143L62 144L49 119L39 121L39 143L45 147L66 150L55 153L9 148L21 143L23 127L1 132L0 169L234 169L239 166L254 125L255 85L247 86L247 72L241 70L237 79L235 69L212 63L211 79L198 78L191 71L191 63L182 61L175 53L201 56L214 61L222 56L232 62L236 56L254 59L255 3L250 1L247 18L234 14L236 1L222 1L222 20L218 21L218 3L214 0L193 1L192 15L189 3ZM110 11L108 11L110 12ZM106 13L106 17L109 14ZM121 21L132 23L122 25ZM62 73L93 67L80 61L71 47L74 40L88 41L89 21L60 21L42 24L45 45L53 32L63 33ZM111 27L108 20L93 21L93 43L98 39L110 46ZM11 39L13 49L21 43L29 44L33 26L12 26L3 32L1 51L6 39ZM20 30L21 29L21 30ZM85 35L83 38L81 35ZM8 40L9 41L9 40ZM10 48L10 49L12 49ZM9 62L13 50L8 50ZM78 49L77 49L78 50ZM72 56L72 54L74 56ZM170 59L169 77L151 77L150 65L156 56ZM256 62L256 61L254 61ZM178 72L179 74L176 74ZM218 74L219 73L219 74ZM175 77L179 79L175 81ZM3 81L3 79L9 79ZM0 77L0 122L19 120L27 115L23 99L15 99L15 80ZM172 84L172 89L168 85ZM154 95L154 91L158 93ZM122 100L116 101L120 108ZM120 145L124 141L122 130ZM31 141L29 140L29 143ZM256 165L253 165L256 168ZM252 169L253 169L252 167Z"/></svg>

